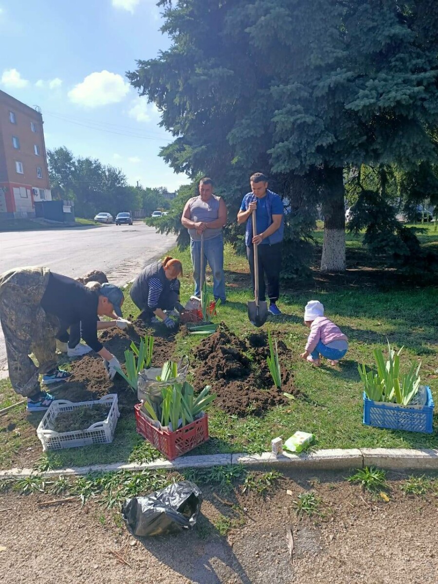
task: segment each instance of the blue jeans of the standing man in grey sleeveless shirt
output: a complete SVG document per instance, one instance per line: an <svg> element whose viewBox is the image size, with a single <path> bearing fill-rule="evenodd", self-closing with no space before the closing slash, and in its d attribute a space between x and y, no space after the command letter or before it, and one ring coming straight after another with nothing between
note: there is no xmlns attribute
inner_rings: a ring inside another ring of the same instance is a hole
<svg viewBox="0 0 438 584"><path fill-rule="evenodd" d="M201 297L201 242L190 240L190 255L192 256L194 296ZM204 280L206 265L210 266L213 273L213 296L225 302L225 277L224 277L224 239L221 235L212 239L204 239Z"/></svg>

